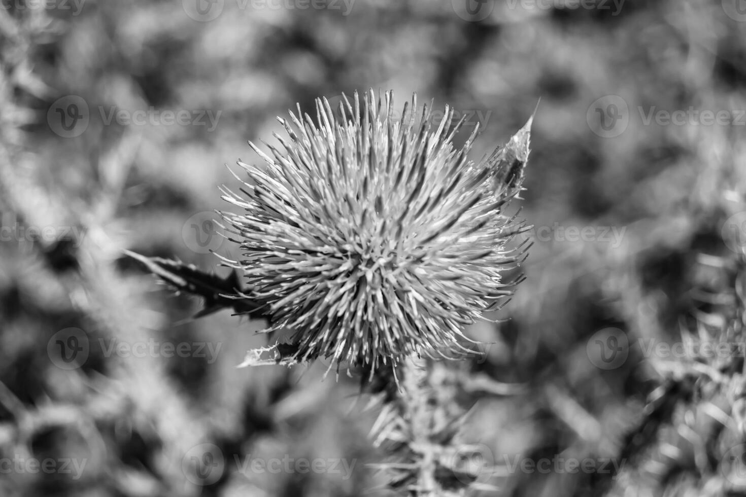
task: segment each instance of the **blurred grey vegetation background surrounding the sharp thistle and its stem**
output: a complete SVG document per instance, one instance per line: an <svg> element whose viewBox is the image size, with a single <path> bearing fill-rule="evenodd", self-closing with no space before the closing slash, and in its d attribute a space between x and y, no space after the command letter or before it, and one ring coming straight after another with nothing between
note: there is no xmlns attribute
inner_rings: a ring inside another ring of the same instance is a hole
<svg viewBox="0 0 746 497"><path fill-rule="evenodd" d="M368 88L479 121L473 159L541 99L527 281L470 330L494 342L463 392L484 495L743 490L742 356L639 345L743 341L742 0L467 1L0 0L2 496L391 495L360 379L237 369L266 323L189 320L196 300L122 255L238 255L210 230L224 164L257 162L246 141L296 102ZM242 466L283 457L355 463ZM557 457L622 469L510 469Z"/></svg>

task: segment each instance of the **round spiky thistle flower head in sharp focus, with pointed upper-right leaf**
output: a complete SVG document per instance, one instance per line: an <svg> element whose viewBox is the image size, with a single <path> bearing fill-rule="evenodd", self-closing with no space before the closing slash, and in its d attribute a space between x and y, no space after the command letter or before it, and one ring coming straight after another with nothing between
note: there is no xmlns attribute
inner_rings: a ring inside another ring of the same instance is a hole
<svg viewBox="0 0 746 497"><path fill-rule="evenodd" d="M284 151L250 144L264 164L239 161L243 195L223 189L242 209L221 213L242 248L230 263L271 317L266 331L295 332L278 361L374 370L410 354L453 357L468 350L464 327L511 293L501 275L523 253L509 247L523 225L503 208L520 191L530 121L472 162L478 128L457 148L453 110L437 124L416 97L401 115L391 92L381 104L372 90L339 110L317 99L316 121L298 106L279 119Z"/></svg>

